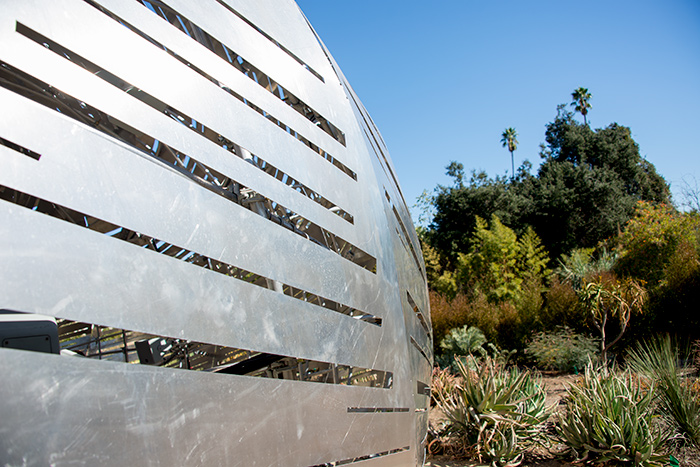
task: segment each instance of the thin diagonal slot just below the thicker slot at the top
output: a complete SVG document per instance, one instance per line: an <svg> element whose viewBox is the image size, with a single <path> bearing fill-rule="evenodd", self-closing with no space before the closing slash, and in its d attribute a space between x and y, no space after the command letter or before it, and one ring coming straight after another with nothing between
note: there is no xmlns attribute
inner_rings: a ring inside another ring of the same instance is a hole
<svg viewBox="0 0 700 467"><path fill-rule="evenodd" d="M347 176L349 176L349 177L352 178L353 180L357 180L357 173L355 173L355 171L353 171L351 168L349 168L348 166L346 166L345 164L343 164L342 162L340 162L338 159L336 159L335 157L333 157L331 154L329 154L328 152L326 152L324 149L322 149L321 147L319 147L318 145L316 145L315 143L313 143L312 141L310 141L308 138L306 138L305 136L303 136L301 133L297 132L296 130L294 130L293 128L291 128L290 126L288 126L287 124L285 124L285 123L282 122L281 120L275 118L275 117L274 117L273 115L271 115L269 112L263 110L263 109L260 108L259 106L257 106L257 105L255 105L254 103L252 103L250 100L244 98L243 96L241 96L240 94L238 94L236 91L234 91L234 90L232 90L230 87L226 86L224 83L218 81L216 78L212 77L211 75L209 75L208 73L206 73L206 72L205 72L204 70L202 70L201 68L199 68L199 67L195 66L194 64L190 63L189 61L187 61L186 59L184 59L183 57L181 57L180 55L178 55L177 53L175 53L175 52L172 51L171 49L165 47L163 44L161 44L160 42L158 42L158 41L156 41L155 39L153 39L151 36L149 36L149 35L146 34L145 32L139 30L138 28L134 27L133 25L131 25L130 23L128 23L128 22L125 21L124 19L120 18L120 17L117 16L116 14L114 14L114 13L112 13L111 11L109 11L108 9L104 8L102 5L99 5L99 4L95 3L93 0L83 0L83 1L84 1L85 3L87 3L87 4L91 5L91 6L93 6L94 8L96 8L97 10L99 10L100 12L104 13L104 14L107 15L109 18L111 18L111 19L113 19L114 21L118 22L118 23L121 24L122 26L126 27L128 30L130 30L130 31L133 32L134 34L136 34L136 35L138 35L139 37L141 37L141 38L147 40L147 41L150 42L152 45L155 45L155 46L158 47L159 49L161 49L161 50L163 50L164 52L168 53L171 57L173 57L174 59L178 60L180 63L182 63L183 65L185 65L186 67L188 67L188 68L191 69L192 71L198 73L200 76L202 76L202 77L205 78L206 80L210 81L211 83L213 83L214 85L216 85L217 87L219 87L221 90L227 92L229 95L231 95L231 96L233 96L234 98L238 99L240 102L242 102L243 104L247 105L249 108L251 108L251 109L253 109L254 111L256 111L258 114L260 114L260 115L262 115L263 117L265 117L268 121L274 123L278 128L282 129L282 130L283 130L285 133L287 133L288 135L290 135L290 136L296 138L298 141L300 141L301 143L303 143L306 147L310 148L312 151L314 151L316 154L318 154L319 156L321 156L321 157L322 157L323 159L325 159L327 162L330 162L331 164L333 164L333 166L335 166L335 167L336 167L337 169L339 169L341 172L343 172L344 174L346 174Z"/></svg>

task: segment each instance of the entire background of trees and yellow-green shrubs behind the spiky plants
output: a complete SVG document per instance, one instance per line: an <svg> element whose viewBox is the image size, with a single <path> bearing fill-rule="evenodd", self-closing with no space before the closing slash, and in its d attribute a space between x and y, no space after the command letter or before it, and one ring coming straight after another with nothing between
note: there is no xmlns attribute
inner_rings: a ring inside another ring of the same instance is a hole
<svg viewBox="0 0 700 467"><path fill-rule="evenodd" d="M521 359L559 325L602 338L604 357L658 331L700 338L700 216L673 207L629 128L556 110L536 173L526 163L514 177L467 178L453 161L452 185L423 196L438 353L464 325Z"/></svg>

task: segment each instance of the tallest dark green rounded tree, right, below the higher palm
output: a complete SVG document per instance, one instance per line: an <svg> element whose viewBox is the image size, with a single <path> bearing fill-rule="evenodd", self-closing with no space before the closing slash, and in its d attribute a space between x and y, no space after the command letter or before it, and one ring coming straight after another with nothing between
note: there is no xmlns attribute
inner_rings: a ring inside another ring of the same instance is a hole
<svg viewBox="0 0 700 467"><path fill-rule="evenodd" d="M613 123L593 131L564 106L558 111L528 193L533 209L523 218L555 256L615 236L637 201L670 200L668 184L642 159L629 128Z"/></svg>

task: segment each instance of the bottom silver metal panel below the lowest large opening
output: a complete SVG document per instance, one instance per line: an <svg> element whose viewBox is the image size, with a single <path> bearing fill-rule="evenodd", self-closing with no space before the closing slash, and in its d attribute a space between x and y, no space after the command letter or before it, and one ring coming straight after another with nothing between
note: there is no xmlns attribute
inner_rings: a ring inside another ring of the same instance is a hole
<svg viewBox="0 0 700 467"><path fill-rule="evenodd" d="M10 464L312 466L410 444L410 414L348 414L337 402L361 403L353 388L11 349L0 366L12 375L0 412L13 420L0 425Z"/></svg>

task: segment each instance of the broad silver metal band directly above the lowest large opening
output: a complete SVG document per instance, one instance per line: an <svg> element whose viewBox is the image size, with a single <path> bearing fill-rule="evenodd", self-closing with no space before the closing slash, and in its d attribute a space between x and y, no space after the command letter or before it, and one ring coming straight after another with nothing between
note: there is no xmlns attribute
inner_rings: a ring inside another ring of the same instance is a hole
<svg viewBox="0 0 700 467"><path fill-rule="evenodd" d="M25 273L0 284L3 308L310 360L381 363L377 326L6 204L0 257ZM28 293L36 284L40 293ZM347 352L356 347L367 352Z"/></svg>

